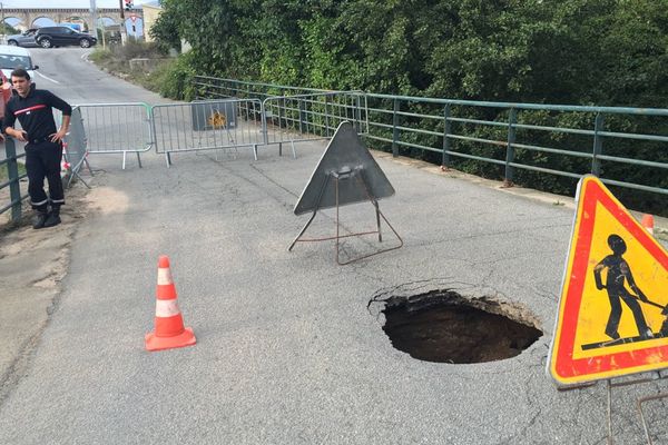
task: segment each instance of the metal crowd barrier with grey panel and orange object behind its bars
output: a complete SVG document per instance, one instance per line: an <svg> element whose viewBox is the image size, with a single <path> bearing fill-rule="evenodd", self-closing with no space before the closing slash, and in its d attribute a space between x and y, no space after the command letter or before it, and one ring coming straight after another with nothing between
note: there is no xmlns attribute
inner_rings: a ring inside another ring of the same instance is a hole
<svg viewBox="0 0 668 445"><path fill-rule="evenodd" d="M266 140L262 102L257 99L198 100L189 103L157 105L151 108L156 151L171 154L213 149L252 148Z"/></svg>

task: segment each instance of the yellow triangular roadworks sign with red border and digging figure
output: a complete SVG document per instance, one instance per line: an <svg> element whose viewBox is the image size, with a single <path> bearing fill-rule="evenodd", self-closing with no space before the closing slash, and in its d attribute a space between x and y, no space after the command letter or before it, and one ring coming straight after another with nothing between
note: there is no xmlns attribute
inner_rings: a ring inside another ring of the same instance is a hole
<svg viewBox="0 0 668 445"><path fill-rule="evenodd" d="M668 254L593 176L577 210L549 370L571 385L668 366Z"/></svg>

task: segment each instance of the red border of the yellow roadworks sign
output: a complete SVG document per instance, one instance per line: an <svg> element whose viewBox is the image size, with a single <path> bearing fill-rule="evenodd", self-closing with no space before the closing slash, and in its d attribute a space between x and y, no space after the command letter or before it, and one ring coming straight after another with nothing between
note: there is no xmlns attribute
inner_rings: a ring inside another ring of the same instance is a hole
<svg viewBox="0 0 668 445"><path fill-rule="evenodd" d="M668 269L668 256L661 246L649 236L598 178L583 177L578 194L578 208L569 251L571 264L567 265L559 306L561 323L557 324L551 357L548 363L552 377L562 384L583 383L668 367L668 342L660 346L641 347L639 345L639 349L579 359L572 358L591 241L595 235L597 202L610 211L657 263ZM591 215L591 217L582 218L583 215Z"/></svg>

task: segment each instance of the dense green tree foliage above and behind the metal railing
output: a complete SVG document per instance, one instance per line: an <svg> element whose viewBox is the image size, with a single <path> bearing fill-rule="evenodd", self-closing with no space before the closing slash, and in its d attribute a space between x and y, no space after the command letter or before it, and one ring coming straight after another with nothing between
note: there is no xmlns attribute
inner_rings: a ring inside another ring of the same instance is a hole
<svg viewBox="0 0 668 445"><path fill-rule="evenodd" d="M158 24L155 37L187 40L190 69L209 76L485 101L668 103L668 0L165 0ZM539 112L522 119L568 123ZM658 123L606 125L656 132ZM658 146L645 159L668 161ZM616 155L630 150L622 142ZM528 161L572 162L544 154ZM647 179L632 169L616 174ZM668 187L667 178L659 170L654 184ZM568 178L524 172L519 180L573 190Z"/></svg>

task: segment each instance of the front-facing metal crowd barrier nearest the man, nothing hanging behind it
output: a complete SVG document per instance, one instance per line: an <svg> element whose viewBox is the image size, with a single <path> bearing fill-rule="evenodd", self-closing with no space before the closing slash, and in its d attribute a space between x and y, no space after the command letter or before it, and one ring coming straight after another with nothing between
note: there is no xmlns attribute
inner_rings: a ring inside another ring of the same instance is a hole
<svg viewBox="0 0 668 445"><path fill-rule="evenodd" d="M141 167L140 154L154 145L148 105L86 103L77 108L81 112L88 152L122 154L124 169L127 154L134 152Z"/></svg>

